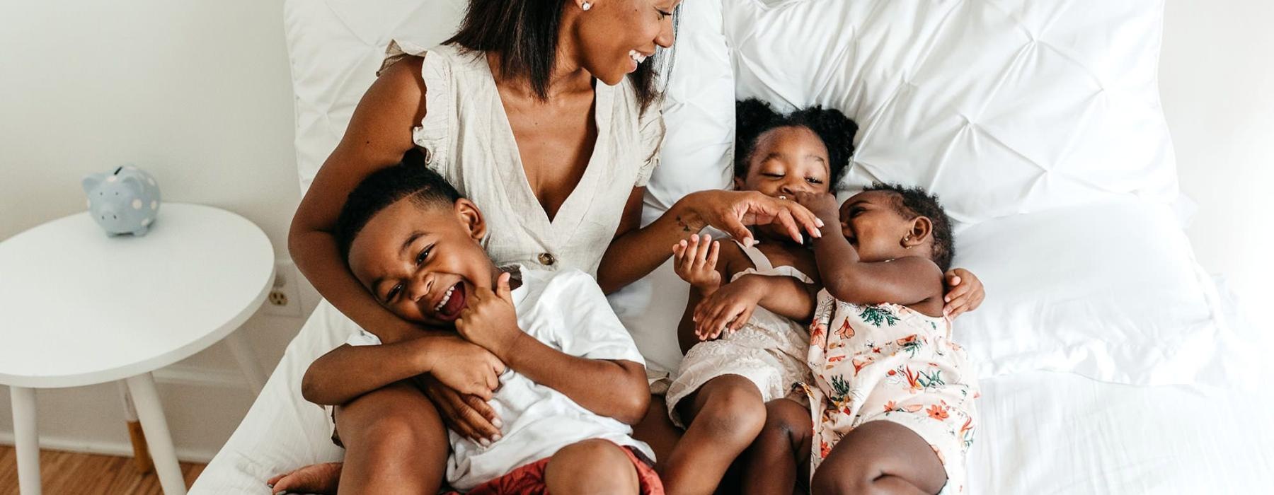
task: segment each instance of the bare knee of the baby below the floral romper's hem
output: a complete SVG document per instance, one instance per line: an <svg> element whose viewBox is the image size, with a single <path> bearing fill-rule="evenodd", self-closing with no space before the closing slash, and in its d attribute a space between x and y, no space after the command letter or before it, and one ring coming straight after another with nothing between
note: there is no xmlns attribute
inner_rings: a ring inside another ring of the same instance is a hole
<svg viewBox="0 0 1274 495"><path fill-rule="evenodd" d="M810 481L832 494L936 494L947 484L938 454L920 435L891 421L869 421L841 439Z"/></svg>

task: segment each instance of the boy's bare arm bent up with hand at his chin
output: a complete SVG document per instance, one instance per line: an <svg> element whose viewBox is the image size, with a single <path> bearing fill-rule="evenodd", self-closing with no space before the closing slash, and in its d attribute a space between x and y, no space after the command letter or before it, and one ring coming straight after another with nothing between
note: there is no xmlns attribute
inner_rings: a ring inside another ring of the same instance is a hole
<svg viewBox="0 0 1274 495"><path fill-rule="evenodd" d="M646 415L650 403L646 366L573 356L524 332L517 326L508 274L499 276L494 291L475 290L456 319L456 330L470 342L490 350L510 369L562 392L589 411L629 425Z"/></svg>

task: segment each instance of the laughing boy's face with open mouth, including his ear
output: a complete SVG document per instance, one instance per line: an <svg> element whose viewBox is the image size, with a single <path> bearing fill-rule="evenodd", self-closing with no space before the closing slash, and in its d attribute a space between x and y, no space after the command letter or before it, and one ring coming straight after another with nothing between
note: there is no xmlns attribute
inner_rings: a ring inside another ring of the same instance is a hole
<svg viewBox="0 0 1274 495"><path fill-rule="evenodd" d="M451 206L399 200L354 238L349 268L394 314L450 326L474 289L490 288L497 275L479 244L484 233L482 214L468 200Z"/></svg>

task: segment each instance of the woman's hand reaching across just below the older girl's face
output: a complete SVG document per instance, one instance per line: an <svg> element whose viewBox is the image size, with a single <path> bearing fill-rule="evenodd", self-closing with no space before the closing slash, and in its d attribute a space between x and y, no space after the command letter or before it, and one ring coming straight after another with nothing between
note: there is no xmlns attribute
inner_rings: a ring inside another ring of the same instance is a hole
<svg viewBox="0 0 1274 495"><path fill-rule="evenodd" d="M689 209L705 224L730 234L744 246L752 246L752 232L748 225L778 224L792 241L804 242L801 229L819 238L823 233L823 220L795 201L780 200L757 191L699 191L685 197ZM684 221L691 232L698 227ZM693 227L692 227L693 225Z"/></svg>

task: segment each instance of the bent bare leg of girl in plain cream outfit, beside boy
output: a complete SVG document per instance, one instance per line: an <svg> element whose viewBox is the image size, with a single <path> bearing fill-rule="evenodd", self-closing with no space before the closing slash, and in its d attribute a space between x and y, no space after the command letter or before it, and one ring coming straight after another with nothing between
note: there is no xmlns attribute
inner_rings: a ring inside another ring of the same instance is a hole
<svg viewBox="0 0 1274 495"><path fill-rule="evenodd" d="M755 384L727 374L705 383L680 407L689 428L664 464L664 489L670 495L707 495L757 438L766 421L766 405Z"/></svg>

